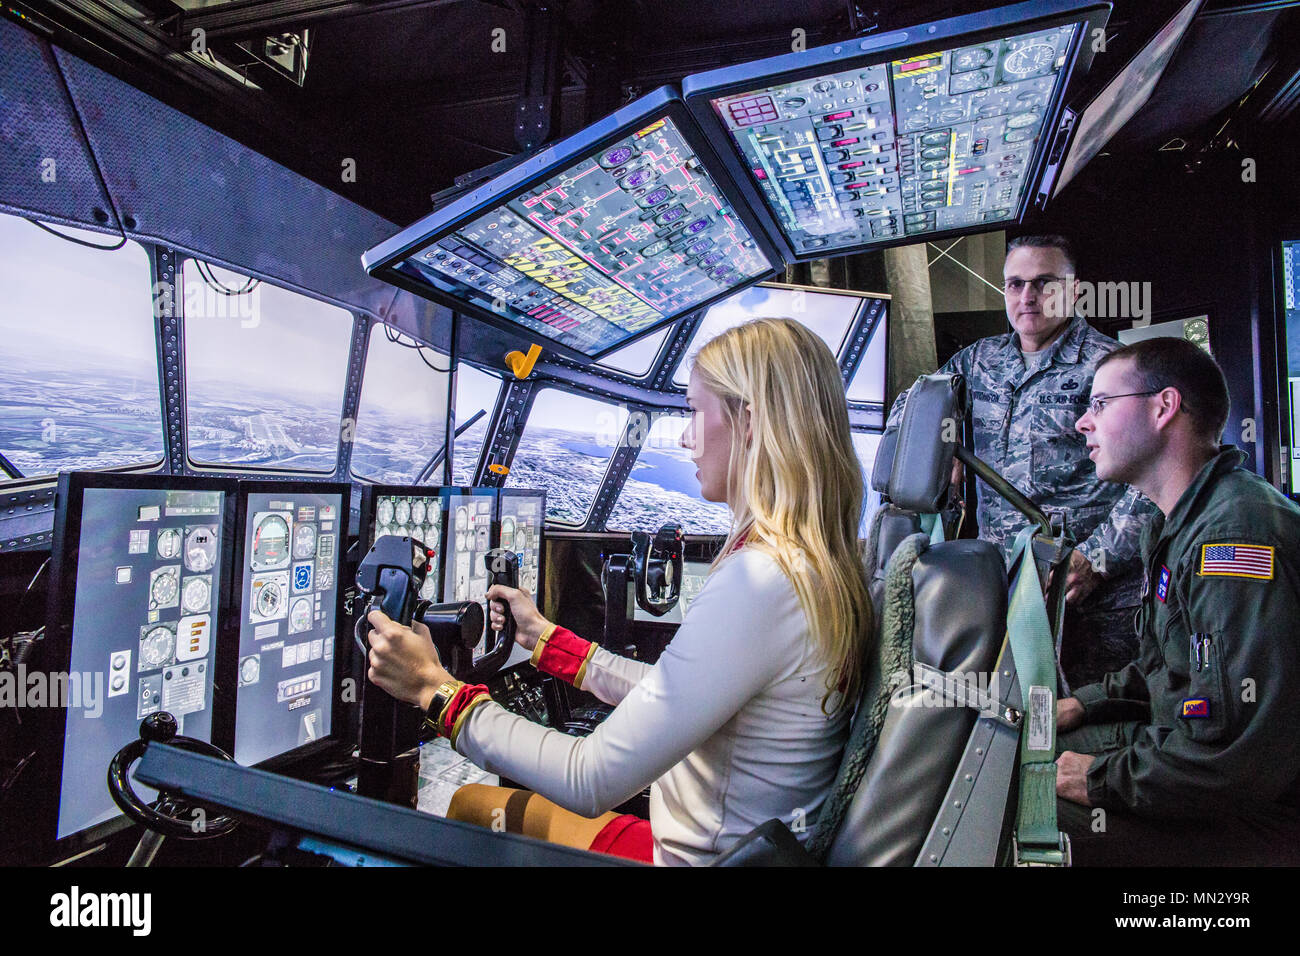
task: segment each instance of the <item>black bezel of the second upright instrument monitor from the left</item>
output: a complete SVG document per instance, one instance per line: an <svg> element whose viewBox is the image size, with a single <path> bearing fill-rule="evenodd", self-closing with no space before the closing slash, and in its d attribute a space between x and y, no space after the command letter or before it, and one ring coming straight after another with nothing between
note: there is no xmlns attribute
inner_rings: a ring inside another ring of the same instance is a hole
<svg viewBox="0 0 1300 956"><path fill-rule="evenodd" d="M231 692L231 704L229 714L226 715L226 723L222 727L222 739L226 744L229 744L229 747L222 747L222 749L234 756L237 743L235 726L239 711L239 632L243 624L243 568L246 558L244 532L248 523L248 496L265 493L294 494L295 490L307 494L338 494L339 501L342 502L339 510L341 532L338 535L338 544L335 545L335 553L338 554L338 570L334 574L334 679L329 689L329 732L309 744L290 748L273 757L266 757L265 760L248 765L263 770L276 770L295 765L322 750L328 750L343 739L348 727L343 702L343 682L350 676L347 649L352 636L351 617L347 613L347 591L352 584L351 576L348 575L350 564L347 563L347 514L351 507L352 485L348 481L240 480L238 481L238 489L235 493L234 527L237 538L234 542L234 553L231 555L231 568L239 572L239 593L234 593L234 583L231 581L230 602L231 610L237 613L226 615L226 639L221 643L217 656L217 675L226 682L228 687L234 688Z"/></svg>

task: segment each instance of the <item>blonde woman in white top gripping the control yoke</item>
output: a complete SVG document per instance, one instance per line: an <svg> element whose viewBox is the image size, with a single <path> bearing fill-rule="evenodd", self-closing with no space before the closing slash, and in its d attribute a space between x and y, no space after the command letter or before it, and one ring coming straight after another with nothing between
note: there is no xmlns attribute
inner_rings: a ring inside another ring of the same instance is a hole
<svg viewBox="0 0 1300 956"><path fill-rule="evenodd" d="M376 684L419 704L474 763L534 792L465 787L448 816L655 864L707 864L779 817L806 832L838 769L871 633L857 548L862 471L826 343L757 319L705 345L681 437L731 535L655 665L621 658L495 585L541 670L615 705L571 737L491 702L442 669L428 635L374 611ZM611 810L646 784L650 821Z"/></svg>

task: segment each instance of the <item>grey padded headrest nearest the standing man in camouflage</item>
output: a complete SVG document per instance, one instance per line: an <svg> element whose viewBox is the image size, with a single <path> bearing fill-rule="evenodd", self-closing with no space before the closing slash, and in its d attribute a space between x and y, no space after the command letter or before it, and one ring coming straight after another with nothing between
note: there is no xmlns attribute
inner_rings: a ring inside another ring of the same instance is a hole
<svg viewBox="0 0 1300 956"><path fill-rule="evenodd" d="M923 375L909 389L902 420L885 431L871 472L871 486L897 507L920 514L942 507L965 394L959 375Z"/></svg>

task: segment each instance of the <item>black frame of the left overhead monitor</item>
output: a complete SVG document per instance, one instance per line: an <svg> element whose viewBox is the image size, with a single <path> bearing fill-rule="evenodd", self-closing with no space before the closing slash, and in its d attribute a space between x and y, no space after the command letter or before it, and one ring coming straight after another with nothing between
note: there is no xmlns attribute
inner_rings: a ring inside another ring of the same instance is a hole
<svg viewBox="0 0 1300 956"><path fill-rule="evenodd" d="M696 156L699 157L699 161L714 179L718 190L727 199L727 203L733 213L745 224L745 228L754 238L758 251L762 252L771 264L768 271L760 272L757 276L745 280L740 285L732 286L718 295L696 303L689 310L664 316L660 321L647 325L634 336L630 336L607 349L586 352L541 332L529 329L525 325L512 321L511 319L497 315L490 308L482 308L471 302L458 299L455 295L445 293L441 289L434 289L429 285L419 282L398 269L398 265L411 255L420 252L421 250L456 232L456 229L464 226L467 222L477 219L478 216L482 216L495 206L504 204L514 195L532 189L550 176L567 169L582 159L595 155L604 147L611 146L628 134L636 133L659 118L672 120L682 138L696 152ZM374 278L389 282L399 289L404 289L406 291L419 295L420 298L438 302L454 310L459 315L471 316L519 338L524 338L530 342L540 341L543 347L550 349L559 355L584 363L604 358L606 355L615 352L619 349L644 338L645 336L658 332L664 325L671 325L685 316L689 316L702 308L707 308L719 299L733 295L755 282L772 278L774 276L780 274L784 268L780 251L772 242L770 230L754 215L754 211L750 208L748 202L748 196L744 195L744 191L734 182L731 170L725 166L724 159L719 155L719 151L712 147L706 133L698 127L690 114L690 111L686 108L686 104L681 100L680 94L671 86L662 86L611 113L603 120L599 120L598 122L575 133L573 135L567 137L532 156L524 157L517 165L512 166L507 172L500 173L472 191L452 199L442 208L429 213L413 225L407 226L393 238L367 250L361 255L361 265L365 268L367 273Z"/></svg>

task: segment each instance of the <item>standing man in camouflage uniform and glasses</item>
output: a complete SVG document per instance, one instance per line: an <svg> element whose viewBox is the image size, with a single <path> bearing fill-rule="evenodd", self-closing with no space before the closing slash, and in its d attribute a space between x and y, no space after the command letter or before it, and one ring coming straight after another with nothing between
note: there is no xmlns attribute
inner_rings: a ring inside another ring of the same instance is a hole
<svg viewBox="0 0 1300 956"><path fill-rule="evenodd" d="M975 455L1045 512L1061 515L1078 542L1061 646L1062 672L1074 687L1138 656L1138 550L1154 506L1126 485L1098 480L1074 429L1087 408L1096 363L1119 343L1074 315L1078 281L1069 242L1058 235L1015 239L1002 273L1015 330L982 338L939 371L966 380ZM904 401L894 402L889 425L901 420ZM1010 557L1028 519L983 483L978 496L979 536Z"/></svg>

